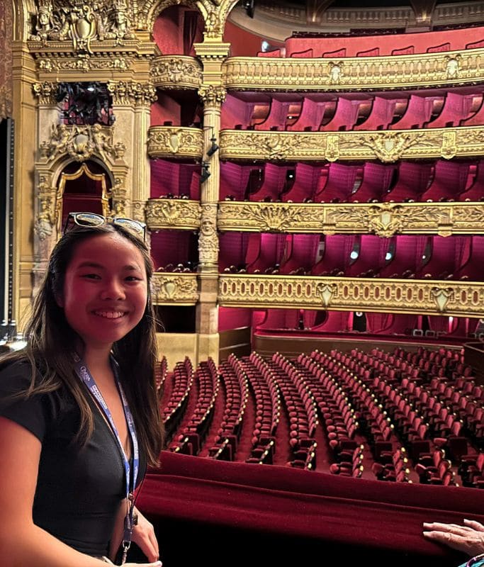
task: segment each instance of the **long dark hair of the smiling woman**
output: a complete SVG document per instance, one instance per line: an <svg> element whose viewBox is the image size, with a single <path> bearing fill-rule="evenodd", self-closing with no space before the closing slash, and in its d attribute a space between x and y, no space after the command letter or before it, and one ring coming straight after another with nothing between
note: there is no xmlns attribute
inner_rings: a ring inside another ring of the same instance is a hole
<svg viewBox="0 0 484 567"><path fill-rule="evenodd" d="M144 451L147 463L156 466L162 449L163 424L154 382L157 344L150 293L153 264L145 242L122 226L76 226L61 237L50 255L40 291L33 303L32 315L26 325L27 346L3 357L1 366L7 361L26 358L30 361L32 380L28 391L22 395L52 392L61 386L67 388L79 405L81 416L79 432L74 442L85 444L94 430L94 416L86 400L86 390L74 371L74 360L81 339L70 327L64 309L57 304L56 298L62 297L67 267L77 245L89 238L113 233L135 245L145 261L148 286L145 313L128 335L113 344L113 354L120 367L120 381L135 420L140 449Z"/></svg>

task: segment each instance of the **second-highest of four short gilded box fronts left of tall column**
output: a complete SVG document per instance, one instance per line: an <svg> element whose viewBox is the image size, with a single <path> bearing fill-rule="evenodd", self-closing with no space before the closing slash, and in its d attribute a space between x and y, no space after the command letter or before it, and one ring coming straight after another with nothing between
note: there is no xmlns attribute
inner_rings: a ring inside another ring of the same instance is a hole
<svg viewBox="0 0 484 567"><path fill-rule="evenodd" d="M203 130L181 126L152 126L148 131L150 157L196 157L203 155Z"/></svg>

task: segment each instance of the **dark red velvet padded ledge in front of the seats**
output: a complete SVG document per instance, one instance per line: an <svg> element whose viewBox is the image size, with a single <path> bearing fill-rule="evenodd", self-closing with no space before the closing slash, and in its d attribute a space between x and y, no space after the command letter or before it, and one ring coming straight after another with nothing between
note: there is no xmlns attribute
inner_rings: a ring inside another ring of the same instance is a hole
<svg viewBox="0 0 484 567"><path fill-rule="evenodd" d="M138 505L154 519L208 522L371 552L375 566L381 565L378 552L393 554L395 565L406 554L428 562L413 561L412 567L456 565L459 556L422 537L422 522L484 521L484 492L472 488L356 480L167 452L162 468L148 474Z"/></svg>

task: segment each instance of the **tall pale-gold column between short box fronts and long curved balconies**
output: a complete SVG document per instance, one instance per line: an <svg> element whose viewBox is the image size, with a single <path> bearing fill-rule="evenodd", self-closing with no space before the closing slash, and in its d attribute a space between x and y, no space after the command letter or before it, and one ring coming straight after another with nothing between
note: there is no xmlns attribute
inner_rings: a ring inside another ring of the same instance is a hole
<svg viewBox="0 0 484 567"><path fill-rule="evenodd" d="M222 64L228 55L229 44L197 43L196 54L203 64L203 82L198 94L203 101L204 157L210 176L201 186L201 225L198 238L199 291L196 311L198 360L212 357L218 361L218 233L217 210L220 189L220 162L213 144L220 139L220 109L225 101Z"/></svg>

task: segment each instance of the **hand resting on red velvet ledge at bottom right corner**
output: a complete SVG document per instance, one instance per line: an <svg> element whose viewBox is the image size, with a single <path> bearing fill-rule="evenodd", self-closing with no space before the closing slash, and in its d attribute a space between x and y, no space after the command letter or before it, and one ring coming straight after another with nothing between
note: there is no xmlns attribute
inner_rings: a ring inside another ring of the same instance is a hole
<svg viewBox="0 0 484 567"><path fill-rule="evenodd" d="M463 551L471 557L484 553L484 526L474 520L464 520L463 526L439 522L424 523L424 530L424 537L427 539Z"/></svg>

